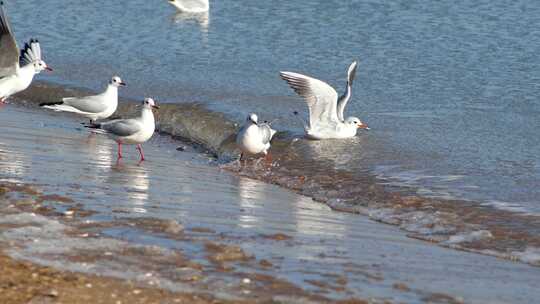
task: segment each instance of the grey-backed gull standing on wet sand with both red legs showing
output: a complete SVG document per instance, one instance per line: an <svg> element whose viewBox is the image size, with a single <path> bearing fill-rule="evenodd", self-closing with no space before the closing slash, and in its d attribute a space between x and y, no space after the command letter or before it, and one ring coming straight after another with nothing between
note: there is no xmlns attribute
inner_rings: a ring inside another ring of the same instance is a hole
<svg viewBox="0 0 540 304"><path fill-rule="evenodd" d="M152 109L159 109L152 98L145 98L142 102L141 116L130 119L115 119L103 123L90 123L87 128L95 129L93 132L106 134L118 143L118 159L122 158L122 145L137 145L137 150L144 161L141 144L149 140L154 134L156 123Z"/></svg>

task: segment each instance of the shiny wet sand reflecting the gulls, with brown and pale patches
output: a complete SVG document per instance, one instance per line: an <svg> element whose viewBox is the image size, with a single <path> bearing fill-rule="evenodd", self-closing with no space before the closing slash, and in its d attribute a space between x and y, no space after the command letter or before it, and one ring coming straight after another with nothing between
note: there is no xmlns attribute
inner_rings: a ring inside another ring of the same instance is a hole
<svg viewBox="0 0 540 304"><path fill-rule="evenodd" d="M61 275L235 302L532 303L540 296L538 267L408 238L232 175L167 136L144 146L147 162L138 164L129 148L116 163L115 144L88 137L69 115L9 105L0 121L3 251Z"/></svg>

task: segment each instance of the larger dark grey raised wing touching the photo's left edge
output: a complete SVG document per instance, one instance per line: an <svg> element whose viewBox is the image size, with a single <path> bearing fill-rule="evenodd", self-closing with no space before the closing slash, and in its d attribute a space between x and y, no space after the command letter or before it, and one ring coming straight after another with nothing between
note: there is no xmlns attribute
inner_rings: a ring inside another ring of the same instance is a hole
<svg viewBox="0 0 540 304"><path fill-rule="evenodd" d="M13 75L19 68L19 48L9 25L4 3L0 1L0 78Z"/></svg>

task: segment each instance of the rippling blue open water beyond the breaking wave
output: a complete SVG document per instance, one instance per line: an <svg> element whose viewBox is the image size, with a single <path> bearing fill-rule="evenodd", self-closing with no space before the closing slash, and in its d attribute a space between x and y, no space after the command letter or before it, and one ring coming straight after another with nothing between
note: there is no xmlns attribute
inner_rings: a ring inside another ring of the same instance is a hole
<svg viewBox="0 0 540 304"><path fill-rule="evenodd" d="M349 113L373 131L352 141L384 182L428 196L540 212L540 3L533 1L211 1L203 15L163 1L9 1L20 42L36 36L47 79L124 95L199 101L240 119L304 110L282 69L341 90L360 62ZM45 79L45 77L41 77ZM360 144L361 143L361 144ZM345 161L345 164L343 163Z"/></svg>

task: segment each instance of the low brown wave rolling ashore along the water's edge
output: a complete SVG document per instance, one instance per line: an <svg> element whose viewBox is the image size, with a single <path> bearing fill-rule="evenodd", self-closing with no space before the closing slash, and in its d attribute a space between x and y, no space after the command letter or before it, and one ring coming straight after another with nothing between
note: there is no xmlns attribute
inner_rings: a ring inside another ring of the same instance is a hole
<svg viewBox="0 0 540 304"><path fill-rule="evenodd" d="M58 100L84 90L37 83L18 97L37 102ZM135 111L135 101L123 100L118 115ZM410 236L443 246L540 264L538 216L482 206L481 202L419 195L415 187L394 186L364 170L347 170L340 158L368 158L366 151L350 151L348 141L313 142L280 133L273 141L271 167L257 160L240 166L232 161L237 151L237 123L197 104L162 104L158 129L164 134L195 143L216 155L222 168L237 174L293 189L326 203L334 210L359 213L397 225ZM362 141L362 136L351 139ZM228 163L227 163L228 162Z"/></svg>

